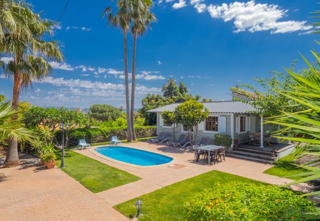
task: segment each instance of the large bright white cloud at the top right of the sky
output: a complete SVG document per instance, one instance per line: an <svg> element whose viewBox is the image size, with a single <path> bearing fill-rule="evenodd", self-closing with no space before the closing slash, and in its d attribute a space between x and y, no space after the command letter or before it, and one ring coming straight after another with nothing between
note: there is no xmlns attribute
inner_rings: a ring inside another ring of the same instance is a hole
<svg viewBox="0 0 320 221"><path fill-rule="evenodd" d="M236 28L234 32L271 30L271 33L286 33L311 29L306 25L306 21L279 22L279 19L287 16L288 10L280 9L276 4L256 3L255 0L221 5L210 4L207 10L212 18L223 19L224 22L234 20Z"/></svg>

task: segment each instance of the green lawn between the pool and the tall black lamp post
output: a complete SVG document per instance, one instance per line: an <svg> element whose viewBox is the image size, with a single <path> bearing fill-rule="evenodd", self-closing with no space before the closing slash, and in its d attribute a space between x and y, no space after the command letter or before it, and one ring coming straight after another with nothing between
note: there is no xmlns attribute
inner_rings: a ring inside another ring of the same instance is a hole
<svg viewBox="0 0 320 221"><path fill-rule="evenodd" d="M109 190L140 179L126 171L108 166L74 151L65 150L65 153L65 167L62 170L93 193ZM56 154L58 157L56 165L60 166L61 151L57 150Z"/></svg>

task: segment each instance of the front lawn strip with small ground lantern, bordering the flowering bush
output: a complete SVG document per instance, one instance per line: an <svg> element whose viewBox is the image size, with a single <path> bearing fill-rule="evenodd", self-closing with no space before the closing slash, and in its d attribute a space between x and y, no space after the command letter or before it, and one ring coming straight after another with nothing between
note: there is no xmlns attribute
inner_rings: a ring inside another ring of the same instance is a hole
<svg viewBox="0 0 320 221"><path fill-rule="evenodd" d="M223 185L230 181L257 182L213 170L140 196L142 215L139 221L183 221L185 220L184 204L191 200L195 193L214 187L216 182ZM134 205L135 201L136 198L118 204L114 208L128 218L132 218L137 212Z"/></svg>

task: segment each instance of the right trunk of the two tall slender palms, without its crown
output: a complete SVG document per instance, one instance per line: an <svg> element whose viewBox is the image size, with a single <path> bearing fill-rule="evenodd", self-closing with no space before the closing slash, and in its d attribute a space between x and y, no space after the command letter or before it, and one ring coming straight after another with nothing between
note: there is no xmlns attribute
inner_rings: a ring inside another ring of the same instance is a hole
<svg viewBox="0 0 320 221"><path fill-rule="evenodd" d="M133 33L133 45L132 45L132 82L131 82L131 110L130 110L130 120L131 120L131 130L132 139L136 140L137 136L134 131L134 92L135 92L135 54L137 46L137 30Z"/></svg>

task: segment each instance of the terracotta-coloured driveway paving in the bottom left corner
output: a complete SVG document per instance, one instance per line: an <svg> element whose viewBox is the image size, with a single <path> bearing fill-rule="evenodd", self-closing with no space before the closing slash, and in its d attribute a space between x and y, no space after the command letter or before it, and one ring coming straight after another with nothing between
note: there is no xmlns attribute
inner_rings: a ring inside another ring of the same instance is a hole
<svg viewBox="0 0 320 221"><path fill-rule="evenodd" d="M128 221L61 169L27 157L22 163L29 164L0 169L1 221Z"/></svg>

